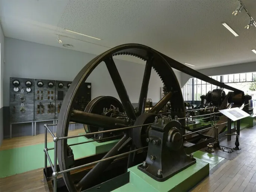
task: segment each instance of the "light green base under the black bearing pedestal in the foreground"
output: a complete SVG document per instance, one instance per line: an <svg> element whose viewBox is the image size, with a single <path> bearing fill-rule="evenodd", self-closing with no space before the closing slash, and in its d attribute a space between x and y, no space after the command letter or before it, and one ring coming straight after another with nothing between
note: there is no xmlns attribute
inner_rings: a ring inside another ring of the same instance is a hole
<svg viewBox="0 0 256 192"><path fill-rule="evenodd" d="M197 183L209 175L209 163L196 159L194 165L179 172L175 176L164 182L158 182L142 171L138 170L138 165L128 169L130 172L130 182L113 192L168 192L168 191L188 191Z"/></svg>

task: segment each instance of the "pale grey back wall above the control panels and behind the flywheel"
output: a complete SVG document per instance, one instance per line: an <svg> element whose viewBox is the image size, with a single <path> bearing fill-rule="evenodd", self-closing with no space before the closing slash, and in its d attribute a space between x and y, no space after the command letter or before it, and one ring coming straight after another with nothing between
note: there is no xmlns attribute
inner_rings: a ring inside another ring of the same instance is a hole
<svg viewBox="0 0 256 192"><path fill-rule="evenodd" d="M13 38L5 38L5 53L4 106L9 106L10 77L72 81L81 68L96 56ZM145 65L123 60L115 60L115 63L131 102L137 103ZM175 73L180 80L181 72ZM118 97L104 63L96 67L87 81L92 83L92 98L100 95ZM160 78L152 71L148 97L153 102L160 99L161 86Z"/></svg>

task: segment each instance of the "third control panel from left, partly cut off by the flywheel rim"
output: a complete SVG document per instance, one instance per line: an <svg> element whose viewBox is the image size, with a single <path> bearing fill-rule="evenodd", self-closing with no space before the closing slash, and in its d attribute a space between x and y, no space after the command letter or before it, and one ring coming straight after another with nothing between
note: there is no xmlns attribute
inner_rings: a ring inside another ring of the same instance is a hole
<svg viewBox="0 0 256 192"><path fill-rule="evenodd" d="M61 110L61 105L63 102L63 99L68 91L68 88L71 85L71 81L55 81L55 85L56 85L56 94L55 94L55 111L56 111L56 115L55 118L58 119L59 116L59 112Z"/></svg>

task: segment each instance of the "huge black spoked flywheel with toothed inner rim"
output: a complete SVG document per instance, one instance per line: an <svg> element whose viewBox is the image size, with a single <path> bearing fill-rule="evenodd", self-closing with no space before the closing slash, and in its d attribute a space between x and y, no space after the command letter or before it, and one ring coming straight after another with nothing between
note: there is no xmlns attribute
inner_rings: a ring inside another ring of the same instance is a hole
<svg viewBox="0 0 256 192"><path fill-rule="evenodd" d="M136 56L146 61L144 74L141 74L143 75L143 80L139 96L138 111L135 111L133 108L126 88L123 84L120 74L118 73L117 67L115 66L115 62L113 60L113 56L115 55ZM156 50L141 44L120 45L102 53L101 55L96 56L78 73L70 88L68 89L59 114L56 136L65 137L68 135L68 126L70 121L82 123L90 126L91 128L101 127L106 129L129 127L139 125L141 123L153 123L157 113L166 105L167 102L170 102L172 106L172 118L175 118L175 116L178 118L185 117L185 108L181 88L169 63L172 61L172 59L169 58L167 62L167 58L168 57L162 53L159 53ZM111 76L115 89L117 90L118 96L122 103L124 112L126 114L127 118L125 119L108 117L97 112L92 113L89 110L77 111L73 109L73 103L75 102L75 97L77 96L78 90L80 90L80 85L87 80L92 71L101 62L104 62L107 66L108 72ZM154 69L160 76L166 87L167 94L152 109L150 109L148 112L150 115L142 119L140 116L144 114L145 111L145 102L147 98L149 79L152 69ZM181 120L180 123L184 126L185 120ZM108 158L120 154L122 152L120 149L124 149L128 145L133 145L136 148L145 146L145 139L146 134L148 133L148 129L149 127L142 126L124 130L122 133L123 137L103 158ZM132 147L130 147L129 150L132 150ZM69 172L64 173L63 179L68 190L82 191L84 189L90 188L93 181L95 181L112 162L113 159L98 162L98 164L96 164L79 181L74 180ZM67 139L58 141L58 163L60 170L66 170L70 168L70 163L68 161Z"/></svg>

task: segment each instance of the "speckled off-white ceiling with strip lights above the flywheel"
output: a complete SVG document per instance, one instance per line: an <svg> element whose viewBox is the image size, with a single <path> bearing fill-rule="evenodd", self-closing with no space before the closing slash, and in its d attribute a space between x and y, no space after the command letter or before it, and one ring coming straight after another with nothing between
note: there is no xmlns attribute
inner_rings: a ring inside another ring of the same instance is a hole
<svg viewBox="0 0 256 192"><path fill-rule="evenodd" d="M99 53L124 43L141 43L194 69L256 61L256 27L237 0L1 0L6 37ZM243 0L256 19L256 0ZM238 34L235 37L221 23ZM96 40L64 29L101 38ZM124 60L140 62L125 57Z"/></svg>

